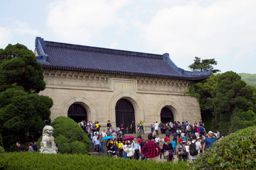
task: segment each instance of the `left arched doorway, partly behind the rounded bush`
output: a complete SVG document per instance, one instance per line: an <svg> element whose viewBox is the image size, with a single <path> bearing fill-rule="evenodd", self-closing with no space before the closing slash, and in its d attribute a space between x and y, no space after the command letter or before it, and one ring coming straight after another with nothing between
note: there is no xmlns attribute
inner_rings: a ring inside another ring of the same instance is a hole
<svg viewBox="0 0 256 170"><path fill-rule="evenodd" d="M68 117L75 120L76 123L81 120L87 121L87 112L82 105L74 103L68 108Z"/></svg>

